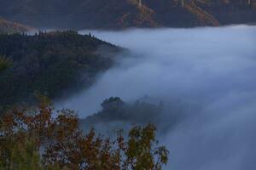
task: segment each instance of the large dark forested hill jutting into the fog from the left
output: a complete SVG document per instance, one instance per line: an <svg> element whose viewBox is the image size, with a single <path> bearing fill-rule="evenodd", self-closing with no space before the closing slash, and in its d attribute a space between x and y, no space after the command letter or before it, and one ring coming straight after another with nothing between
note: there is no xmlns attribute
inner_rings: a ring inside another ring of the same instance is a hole
<svg viewBox="0 0 256 170"><path fill-rule="evenodd" d="M86 88L120 50L76 31L0 35L0 65L8 63L0 70L0 106L31 103L34 93L55 99Z"/></svg>

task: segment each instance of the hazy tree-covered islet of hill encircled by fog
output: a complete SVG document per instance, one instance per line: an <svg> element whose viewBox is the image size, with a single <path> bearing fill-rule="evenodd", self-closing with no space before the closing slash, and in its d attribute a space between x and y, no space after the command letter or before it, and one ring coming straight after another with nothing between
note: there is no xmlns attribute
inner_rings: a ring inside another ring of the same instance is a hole
<svg viewBox="0 0 256 170"><path fill-rule="evenodd" d="M119 97L111 97L102 102L102 111L80 121L81 126L92 126L98 122L130 122L144 125L160 122L163 104L151 104L143 100L125 103Z"/></svg>

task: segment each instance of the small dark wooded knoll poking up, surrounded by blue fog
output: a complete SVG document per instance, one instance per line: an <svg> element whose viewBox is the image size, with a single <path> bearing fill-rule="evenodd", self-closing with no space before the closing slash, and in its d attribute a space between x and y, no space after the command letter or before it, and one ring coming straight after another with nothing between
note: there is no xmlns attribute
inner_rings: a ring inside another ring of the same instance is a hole
<svg viewBox="0 0 256 170"><path fill-rule="evenodd" d="M136 102L128 103L119 97L111 97L102 102L102 111L80 119L79 126L86 130L93 127L101 133L112 134L113 130L125 130L125 127L131 125L144 126L148 123L154 123L163 133L175 125L179 119L175 113L172 113L172 117L166 121L163 110L164 104L162 102L155 103L139 99ZM108 129L107 132L105 132L106 129Z"/></svg>

